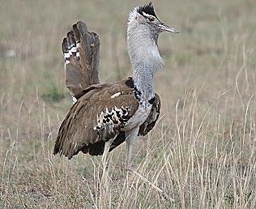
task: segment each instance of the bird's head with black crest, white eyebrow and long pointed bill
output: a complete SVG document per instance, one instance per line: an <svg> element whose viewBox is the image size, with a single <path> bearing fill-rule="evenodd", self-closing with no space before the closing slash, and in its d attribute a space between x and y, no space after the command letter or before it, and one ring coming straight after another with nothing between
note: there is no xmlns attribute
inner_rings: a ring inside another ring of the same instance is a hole
<svg viewBox="0 0 256 209"><path fill-rule="evenodd" d="M138 27L139 25L156 34L160 34L160 32L178 32L177 29L169 27L157 18L152 2L145 6L137 6L133 11L130 11L128 28Z"/></svg>

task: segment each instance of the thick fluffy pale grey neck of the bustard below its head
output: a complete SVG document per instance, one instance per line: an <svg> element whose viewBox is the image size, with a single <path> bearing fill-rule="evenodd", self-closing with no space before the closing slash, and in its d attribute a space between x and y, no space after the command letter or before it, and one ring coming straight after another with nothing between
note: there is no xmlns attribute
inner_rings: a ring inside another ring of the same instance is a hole
<svg viewBox="0 0 256 209"><path fill-rule="evenodd" d="M163 66L158 50L157 39L147 25L129 25L127 30L128 52L133 68L134 85L142 93L142 100L150 100L155 96L153 75Z"/></svg>

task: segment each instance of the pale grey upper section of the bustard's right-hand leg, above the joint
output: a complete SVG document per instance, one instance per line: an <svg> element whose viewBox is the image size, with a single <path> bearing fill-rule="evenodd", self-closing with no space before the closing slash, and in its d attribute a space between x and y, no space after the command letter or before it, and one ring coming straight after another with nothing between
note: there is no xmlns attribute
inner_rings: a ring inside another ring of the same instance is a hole
<svg viewBox="0 0 256 209"><path fill-rule="evenodd" d="M136 146L137 136L139 132L139 127L133 130L126 131L126 146L127 146L127 156L126 156L126 166L127 169L132 169L132 163L134 160L134 146Z"/></svg>

